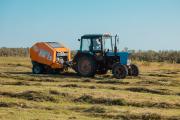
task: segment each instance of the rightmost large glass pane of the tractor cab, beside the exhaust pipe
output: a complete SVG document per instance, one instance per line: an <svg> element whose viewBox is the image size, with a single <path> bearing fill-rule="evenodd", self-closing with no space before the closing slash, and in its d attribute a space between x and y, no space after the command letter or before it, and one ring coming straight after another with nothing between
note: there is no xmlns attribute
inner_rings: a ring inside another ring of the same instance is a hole
<svg viewBox="0 0 180 120"><path fill-rule="evenodd" d="M104 51L113 51L112 37L103 37Z"/></svg>

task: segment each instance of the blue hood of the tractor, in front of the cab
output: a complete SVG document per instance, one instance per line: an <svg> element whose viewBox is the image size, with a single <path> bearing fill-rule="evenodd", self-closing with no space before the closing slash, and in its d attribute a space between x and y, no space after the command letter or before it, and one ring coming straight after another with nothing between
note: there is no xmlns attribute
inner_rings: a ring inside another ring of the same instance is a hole
<svg viewBox="0 0 180 120"><path fill-rule="evenodd" d="M122 65L127 65L128 64L128 57L130 53L128 52L107 52L107 56L119 56L120 63Z"/></svg>

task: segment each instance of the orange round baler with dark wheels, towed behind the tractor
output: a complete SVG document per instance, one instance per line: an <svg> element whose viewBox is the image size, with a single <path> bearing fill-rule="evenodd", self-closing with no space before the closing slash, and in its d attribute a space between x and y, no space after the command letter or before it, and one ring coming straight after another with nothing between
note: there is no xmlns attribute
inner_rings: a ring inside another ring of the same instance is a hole
<svg viewBox="0 0 180 120"><path fill-rule="evenodd" d="M33 73L54 73L67 69L71 52L69 48L57 42L38 42L30 48L30 58Z"/></svg>

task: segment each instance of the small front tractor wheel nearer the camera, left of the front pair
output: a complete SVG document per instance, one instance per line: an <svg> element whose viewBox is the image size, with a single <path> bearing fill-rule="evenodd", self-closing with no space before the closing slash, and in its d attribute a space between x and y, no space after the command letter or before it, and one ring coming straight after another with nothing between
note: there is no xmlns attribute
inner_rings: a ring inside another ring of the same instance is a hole
<svg viewBox="0 0 180 120"><path fill-rule="evenodd" d="M128 74L128 69L125 65L115 64L112 68L112 74L117 79L124 79Z"/></svg>

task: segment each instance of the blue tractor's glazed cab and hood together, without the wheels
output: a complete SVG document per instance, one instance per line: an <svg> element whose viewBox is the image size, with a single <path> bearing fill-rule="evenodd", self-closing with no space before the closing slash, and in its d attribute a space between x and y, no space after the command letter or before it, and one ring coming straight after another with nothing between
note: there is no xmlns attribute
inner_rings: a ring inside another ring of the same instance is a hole
<svg viewBox="0 0 180 120"><path fill-rule="evenodd" d="M119 52L119 36L110 34L88 34L81 37L80 52L94 55L97 61L108 59L112 62L108 67L111 68L114 62L120 62L123 65L128 64L128 52ZM112 61L113 60L113 61Z"/></svg>

